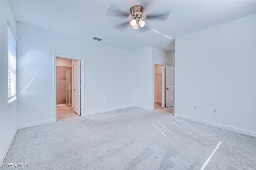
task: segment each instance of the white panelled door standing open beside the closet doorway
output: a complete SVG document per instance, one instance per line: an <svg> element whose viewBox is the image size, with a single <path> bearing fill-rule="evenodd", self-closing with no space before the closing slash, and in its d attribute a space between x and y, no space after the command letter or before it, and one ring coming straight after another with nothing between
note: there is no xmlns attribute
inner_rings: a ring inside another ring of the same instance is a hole
<svg viewBox="0 0 256 170"><path fill-rule="evenodd" d="M173 66L166 66L165 107L174 106L174 68Z"/></svg>

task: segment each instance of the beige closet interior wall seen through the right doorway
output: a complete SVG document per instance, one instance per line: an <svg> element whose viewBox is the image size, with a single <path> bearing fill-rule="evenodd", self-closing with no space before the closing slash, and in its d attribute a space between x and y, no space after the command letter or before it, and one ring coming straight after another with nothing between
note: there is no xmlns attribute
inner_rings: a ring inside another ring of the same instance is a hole
<svg viewBox="0 0 256 170"><path fill-rule="evenodd" d="M155 102L162 101L162 66L155 65Z"/></svg>

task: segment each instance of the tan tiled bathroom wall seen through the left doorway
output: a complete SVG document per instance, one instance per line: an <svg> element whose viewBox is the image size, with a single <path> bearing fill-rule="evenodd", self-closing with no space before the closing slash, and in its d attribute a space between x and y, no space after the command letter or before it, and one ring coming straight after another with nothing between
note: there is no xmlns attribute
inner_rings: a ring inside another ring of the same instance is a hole
<svg viewBox="0 0 256 170"><path fill-rule="evenodd" d="M56 70L57 70L57 104L65 104L66 103L66 70L71 70L71 67L56 66ZM70 82L71 80L72 79L70 77ZM70 87L70 89L72 89L72 87Z"/></svg>

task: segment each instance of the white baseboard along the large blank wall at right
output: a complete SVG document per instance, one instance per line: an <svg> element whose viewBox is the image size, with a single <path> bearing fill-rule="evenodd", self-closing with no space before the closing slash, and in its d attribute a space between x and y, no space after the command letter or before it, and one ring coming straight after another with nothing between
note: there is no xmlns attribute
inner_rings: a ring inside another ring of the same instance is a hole
<svg viewBox="0 0 256 170"><path fill-rule="evenodd" d="M219 124L219 123L214 123L214 122L211 122L211 121L197 119L197 118L193 118L193 117L189 117L189 116L179 115L179 114L176 114L176 113L174 113L174 116L182 118L182 119L187 119L187 120L191 120L191 121L195 121L195 122L199 122L199 123L204 123L206 125L211 125L211 126L214 126L214 127L219 127L219 128L222 128L222 129L227 129L229 131L234 131L234 132L238 132L238 133L242 133L242 134L245 134L245 135L250 135L250 136L256 137L256 132L253 132L253 131L248 131L248 130L240 129L240 128L237 128L237 127L231 127L231 126L228 126L228 125L222 125L222 124Z"/></svg>

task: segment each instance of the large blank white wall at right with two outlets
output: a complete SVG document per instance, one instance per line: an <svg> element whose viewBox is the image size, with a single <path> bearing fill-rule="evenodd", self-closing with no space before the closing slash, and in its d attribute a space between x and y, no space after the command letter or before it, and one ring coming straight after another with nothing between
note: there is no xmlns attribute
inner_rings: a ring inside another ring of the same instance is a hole
<svg viewBox="0 0 256 170"><path fill-rule="evenodd" d="M253 14L176 39L175 116L256 136L255 25Z"/></svg>

